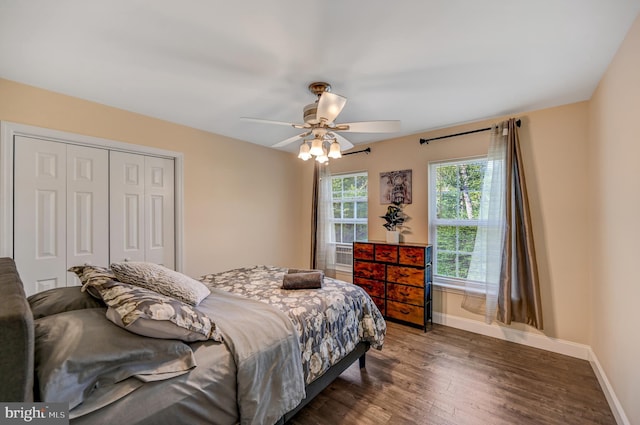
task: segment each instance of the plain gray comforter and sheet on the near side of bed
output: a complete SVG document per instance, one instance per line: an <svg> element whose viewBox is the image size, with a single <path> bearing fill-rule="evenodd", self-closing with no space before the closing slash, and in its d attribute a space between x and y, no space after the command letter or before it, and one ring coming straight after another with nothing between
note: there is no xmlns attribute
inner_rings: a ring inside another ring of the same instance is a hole
<svg viewBox="0 0 640 425"><path fill-rule="evenodd" d="M198 366L188 374L139 387L115 384L110 390L122 398L71 422L273 424L299 404L305 390L298 334L284 313L217 289L198 309L216 322L224 343L191 344ZM104 393L81 406L104 405Z"/></svg>

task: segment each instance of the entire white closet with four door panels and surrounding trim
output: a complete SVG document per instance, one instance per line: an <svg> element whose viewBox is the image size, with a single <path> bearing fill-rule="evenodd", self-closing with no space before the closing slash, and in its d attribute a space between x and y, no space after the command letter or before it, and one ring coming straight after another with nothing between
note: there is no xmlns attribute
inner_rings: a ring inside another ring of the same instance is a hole
<svg viewBox="0 0 640 425"><path fill-rule="evenodd" d="M181 268L182 154L0 127L0 180L13 182L0 185L0 255L15 259L27 296L79 284L76 265Z"/></svg>

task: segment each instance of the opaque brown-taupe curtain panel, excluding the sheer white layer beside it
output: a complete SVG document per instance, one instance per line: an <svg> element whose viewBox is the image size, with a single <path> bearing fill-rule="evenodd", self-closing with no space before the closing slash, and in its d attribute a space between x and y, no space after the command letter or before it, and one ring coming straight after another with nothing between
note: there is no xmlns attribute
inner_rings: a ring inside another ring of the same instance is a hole
<svg viewBox="0 0 640 425"><path fill-rule="evenodd" d="M497 319L542 329L538 263L516 119L508 121L506 157L506 232Z"/></svg>

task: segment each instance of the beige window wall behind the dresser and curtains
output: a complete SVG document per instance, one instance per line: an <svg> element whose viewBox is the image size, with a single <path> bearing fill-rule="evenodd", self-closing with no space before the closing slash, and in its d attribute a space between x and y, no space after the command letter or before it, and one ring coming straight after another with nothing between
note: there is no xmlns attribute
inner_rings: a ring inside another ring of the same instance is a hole
<svg viewBox="0 0 640 425"><path fill-rule="evenodd" d="M517 114L522 119L520 142L530 193L535 245L538 253L543 300L544 334L588 343L589 289L587 214L590 205L587 180L587 103ZM476 122L371 145L369 155L343 157L330 164L332 173L369 172L369 238L384 240L382 219L386 206L379 203L380 172L411 169L413 203L405 208L411 217L406 242L432 242L428 232L428 164L430 161L486 154L488 133L476 133L420 145L420 138L483 128ZM360 148L360 146L358 147ZM436 291L434 310L483 321L460 307L462 295ZM535 329L514 324L531 332Z"/></svg>

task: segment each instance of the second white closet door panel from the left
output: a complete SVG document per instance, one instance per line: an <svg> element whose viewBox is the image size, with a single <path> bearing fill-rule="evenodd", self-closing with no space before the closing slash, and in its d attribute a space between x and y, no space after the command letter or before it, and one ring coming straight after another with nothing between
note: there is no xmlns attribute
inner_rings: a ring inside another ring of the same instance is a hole
<svg viewBox="0 0 640 425"><path fill-rule="evenodd" d="M67 146L67 268L109 265L109 151ZM74 273L68 285L80 284Z"/></svg>

